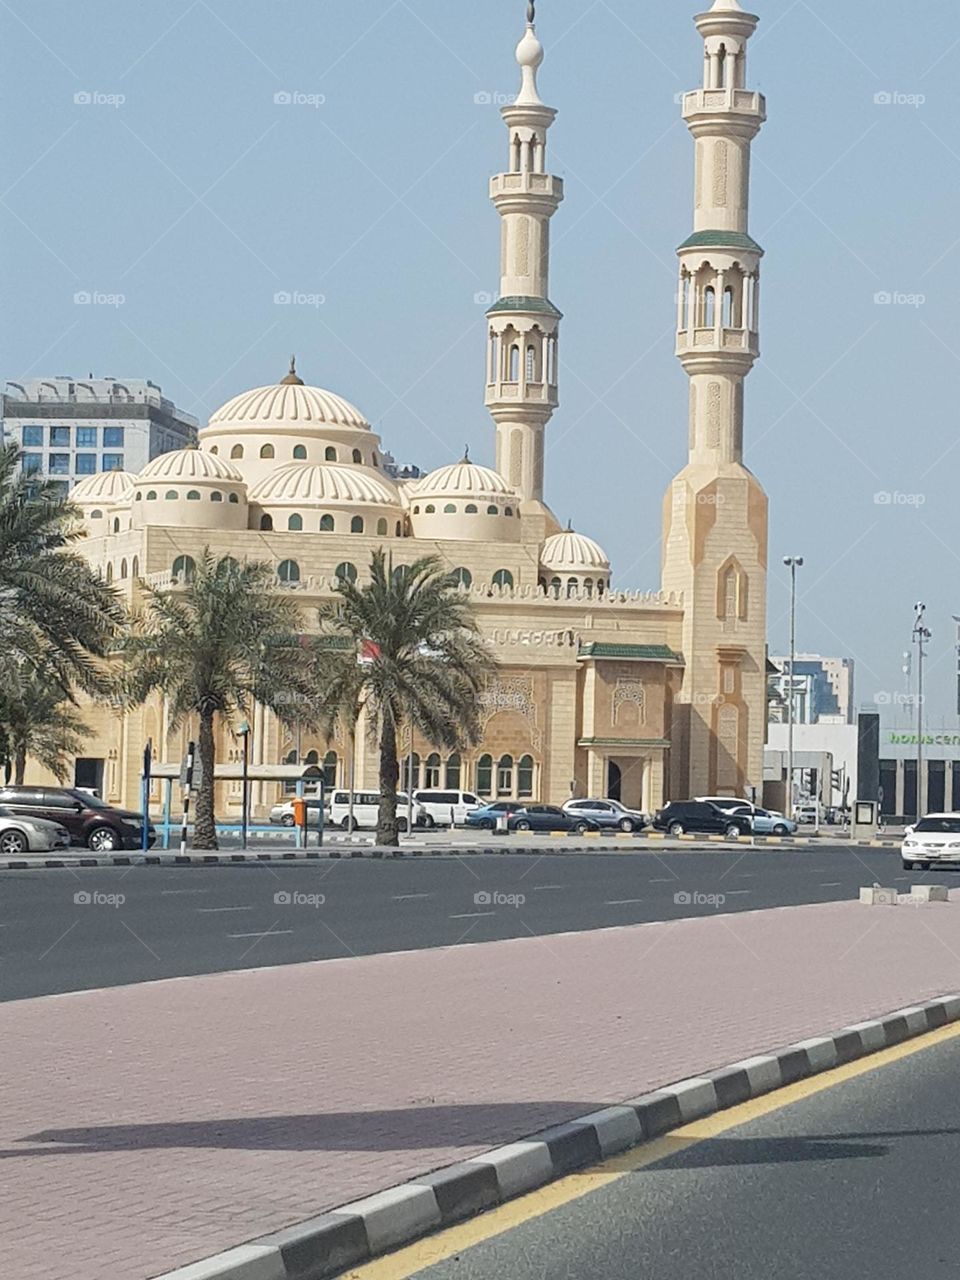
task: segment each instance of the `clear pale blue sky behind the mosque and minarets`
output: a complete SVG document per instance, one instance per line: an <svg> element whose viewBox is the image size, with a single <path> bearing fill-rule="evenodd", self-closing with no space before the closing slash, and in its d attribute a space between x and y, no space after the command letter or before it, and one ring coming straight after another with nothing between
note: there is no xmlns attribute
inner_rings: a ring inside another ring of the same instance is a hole
<svg viewBox="0 0 960 1280"><path fill-rule="evenodd" d="M673 250L692 145L675 95L700 78L694 8L539 5L541 92L561 113L550 168L567 182L548 499L625 588L658 585L660 498L686 444ZM929 712L952 714L960 14L756 8L749 79L769 122L751 230L767 259L746 456L771 495L771 645L786 644L785 553L808 562L801 648L854 655L861 699L901 687L924 599ZM399 460L433 467L470 442L492 461L475 294L498 283L486 180L506 134L475 95L516 91L522 22L522 0L4 0L0 376L150 376L205 420L296 351ZM84 92L125 101L74 102ZM78 307L78 291L125 302ZM280 291L325 301L276 306ZM878 306L881 292L925 301Z"/></svg>

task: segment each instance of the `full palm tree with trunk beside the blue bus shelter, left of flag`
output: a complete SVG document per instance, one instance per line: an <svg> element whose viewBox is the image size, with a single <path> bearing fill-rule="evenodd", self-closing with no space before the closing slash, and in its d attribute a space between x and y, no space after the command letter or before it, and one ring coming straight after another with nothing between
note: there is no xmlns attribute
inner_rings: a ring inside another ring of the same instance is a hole
<svg viewBox="0 0 960 1280"><path fill-rule="evenodd" d="M215 717L246 717L257 701L284 721L315 724L312 648L300 634L300 609L278 590L268 563L216 559L207 548L182 590L145 590L146 612L125 644L128 696L142 703L152 690L164 692L172 728L198 717L195 844L216 849Z"/></svg>

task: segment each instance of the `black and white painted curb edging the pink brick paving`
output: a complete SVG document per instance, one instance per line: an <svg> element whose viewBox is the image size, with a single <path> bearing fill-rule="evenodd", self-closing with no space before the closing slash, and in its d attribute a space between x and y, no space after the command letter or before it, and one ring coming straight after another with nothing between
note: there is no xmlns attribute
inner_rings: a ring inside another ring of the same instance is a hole
<svg viewBox="0 0 960 1280"><path fill-rule="evenodd" d="M325 1280L691 1120L957 1020L960 995L943 996L833 1036L799 1041L778 1053L745 1059L544 1129L156 1280Z"/></svg>

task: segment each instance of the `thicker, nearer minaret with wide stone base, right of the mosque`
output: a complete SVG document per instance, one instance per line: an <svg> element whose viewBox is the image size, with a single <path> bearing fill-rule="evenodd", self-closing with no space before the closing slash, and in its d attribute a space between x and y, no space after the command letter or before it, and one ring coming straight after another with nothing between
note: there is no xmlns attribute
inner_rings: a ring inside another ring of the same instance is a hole
<svg viewBox="0 0 960 1280"><path fill-rule="evenodd" d="M746 88L759 19L716 0L695 19L703 88L684 95L694 136L694 234L680 246L677 356L690 379L689 461L664 504L663 588L682 591L682 689L672 788L763 788L767 498L744 466L744 379L759 355L763 250L748 230L750 145L765 119Z"/></svg>

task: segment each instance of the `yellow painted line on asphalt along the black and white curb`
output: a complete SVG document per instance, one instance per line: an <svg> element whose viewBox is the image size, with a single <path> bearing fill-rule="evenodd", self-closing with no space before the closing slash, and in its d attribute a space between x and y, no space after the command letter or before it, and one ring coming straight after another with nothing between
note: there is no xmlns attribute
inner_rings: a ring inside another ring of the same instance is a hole
<svg viewBox="0 0 960 1280"><path fill-rule="evenodd" d="M344 1272L344 1280L407 1280L426 1267L462 1253L463 1249L483 1244L485 1240L512 1231L525 1222L543 1217L544 1213L550 1213L572 1201L581 1199L591 1192L600 1190L637 1169L653 1165L658 1160L666 1160L667 1156L676 1156L677 1152L694 1147L699 1142L709 1142L710 1138L717 1138L737 1125L759 1120L772 1111L780 1111L794 1102L813 1097L836 1084L844 1084L846 1080L854 1080L881 1066L899 1062L913 1053L920 1053L925 1048L955 1039L957 1036L960 1036L960 1023L951 1023L948 1027L918 1036L904 1044L895 1044L892 1048L870 1053L856 1062L847 1062L846 1066L837 1066L810 1079L797 1080L796 1084L788 1084L727 1111L717 1111L703 1120L695 1120L692 1124L673 1129L672 1133L657 1138L654 1142L634 1147L632 1151L625 1151L620 1156L612 1156L599 1165L582 1170L582 1172L568 1174L556 1183L549 1183L539 1190L509 1201L499 1208L490 1210L489 1213L481 1213L468 1222L448 1228L445 1231L429 1235L422 1240L415 1240L413 1244L408 1244L396 1253L355 1267L352 1271Z"/></svg>

